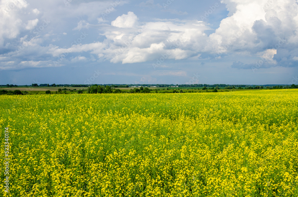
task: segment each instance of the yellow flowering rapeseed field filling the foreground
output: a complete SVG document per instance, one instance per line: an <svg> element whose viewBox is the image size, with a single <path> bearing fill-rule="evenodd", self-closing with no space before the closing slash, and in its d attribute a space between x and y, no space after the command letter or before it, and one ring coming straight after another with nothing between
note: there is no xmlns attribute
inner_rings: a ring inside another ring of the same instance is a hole
<svg viewBox="0 0 298 197"><path fill-rule="evenodd" d="M77 88L78 89L78 88ZM298 90L0 96L7 196L298 196Z"/></svg>

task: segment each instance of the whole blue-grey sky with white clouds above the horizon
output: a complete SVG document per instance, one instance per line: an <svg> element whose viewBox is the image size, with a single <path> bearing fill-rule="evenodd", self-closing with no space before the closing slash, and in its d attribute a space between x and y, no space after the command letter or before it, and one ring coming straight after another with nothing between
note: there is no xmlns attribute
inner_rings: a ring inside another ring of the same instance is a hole
<svg viewBox="0 0 298 197"><path fill-rule="evenodd" d="M0 84L298 84L297 0L1 0Z"/></svg>

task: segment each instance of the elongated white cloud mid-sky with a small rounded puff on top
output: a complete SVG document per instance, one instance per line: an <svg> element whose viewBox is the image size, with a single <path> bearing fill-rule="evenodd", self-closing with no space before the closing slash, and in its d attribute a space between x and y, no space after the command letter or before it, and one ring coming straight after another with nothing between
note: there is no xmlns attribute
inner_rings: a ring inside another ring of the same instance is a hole
<svg viewBox="0 0 298 197"><path fill-rule="evenodd" d="M98 58L112 63L137 63L160 58L186 59L204 49L209 29L202 21L159 20L138 26L137 16L133 12L117 17L107 31L102 43L76 45L69 49L57 46L49 50L54 57L67 51L90 51ZM121 23L120 23L121 21Z"/></svg>

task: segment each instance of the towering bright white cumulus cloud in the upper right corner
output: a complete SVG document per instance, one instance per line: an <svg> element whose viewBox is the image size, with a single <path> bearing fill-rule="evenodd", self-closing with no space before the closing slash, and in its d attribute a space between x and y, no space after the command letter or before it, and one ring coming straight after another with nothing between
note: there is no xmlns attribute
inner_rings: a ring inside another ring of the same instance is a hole
<svg viewBox="0 0 298 197"><path fill-rule="evenodd" d="M229 17L209 36L206 51L229 54L241 50L260 56L259 53L272 49L270 52L275 50L278 54L293 43L290 40L297 40L298 6L295 0L222 2L230 11Z"/></svg>

